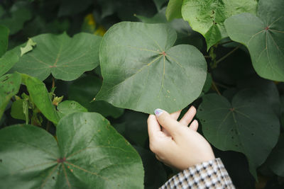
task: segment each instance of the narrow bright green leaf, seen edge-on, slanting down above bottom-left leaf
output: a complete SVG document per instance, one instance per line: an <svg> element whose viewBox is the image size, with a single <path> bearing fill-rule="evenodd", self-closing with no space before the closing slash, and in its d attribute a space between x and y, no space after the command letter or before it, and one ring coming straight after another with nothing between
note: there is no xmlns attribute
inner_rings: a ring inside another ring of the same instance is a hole
<svg viewBox="0 0 284 189"><path fill-rule="evenodd" d="M36 107L48 120L52 121L55 125L58 123L59 116L56 113L55 106L50 100L48 89L45 87L43 81L28 76L22 75L23 83L26 84L28 93L30 94L31 101L35 103Z"/></svg>

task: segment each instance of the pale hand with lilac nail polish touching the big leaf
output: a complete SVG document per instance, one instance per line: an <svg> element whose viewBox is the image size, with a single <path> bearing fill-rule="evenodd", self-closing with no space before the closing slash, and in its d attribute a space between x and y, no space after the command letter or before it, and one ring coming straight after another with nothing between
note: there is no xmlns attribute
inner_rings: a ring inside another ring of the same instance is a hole
<svg viewBox="0 0 284 189"><path fill-rule="evenodd" d="M210 144L197 132L197 120L192 121L195 107L192 106L178 122L180 112L170 115L165 110L156 109L155 115L149 115L150 149L156 158L180 170L215 159Z"/></svg>

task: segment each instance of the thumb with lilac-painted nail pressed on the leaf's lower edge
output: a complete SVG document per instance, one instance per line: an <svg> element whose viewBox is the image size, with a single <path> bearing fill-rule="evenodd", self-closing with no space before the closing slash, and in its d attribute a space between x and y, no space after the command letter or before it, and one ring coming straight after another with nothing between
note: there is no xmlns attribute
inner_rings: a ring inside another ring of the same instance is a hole
<svg viewBox="0 0 284 189"><path fill-rule="evenodd" d="M169 113L159 108L155 109L154 113L160 126L165 128L165 130L167 130L172 137L180 134L180 123L175 120Z"/></svg>

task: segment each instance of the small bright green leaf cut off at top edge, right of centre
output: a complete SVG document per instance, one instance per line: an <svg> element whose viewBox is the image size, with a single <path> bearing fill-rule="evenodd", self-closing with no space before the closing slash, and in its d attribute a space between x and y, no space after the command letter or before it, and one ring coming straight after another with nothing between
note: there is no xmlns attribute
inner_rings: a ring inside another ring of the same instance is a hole
<svg viewBox="0 0 284 189"><path fill-rule="evenodd" d="M182 0L170 0L168 3L165 16L168 21L172 21L174 18L182 18Z"/></svg>

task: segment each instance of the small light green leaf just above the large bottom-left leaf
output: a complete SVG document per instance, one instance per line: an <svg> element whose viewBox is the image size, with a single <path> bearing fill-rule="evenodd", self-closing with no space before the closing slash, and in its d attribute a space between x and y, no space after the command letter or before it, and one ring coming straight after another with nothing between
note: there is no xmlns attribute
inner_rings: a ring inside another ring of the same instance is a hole
<svg viewBox="0 0 284 189"><path fill-rule="evenodd" d="M75 101L63 101L58 105L58 115L60 118L63 118L65 115L71 113L87 112L88 110L84 106L80 105Z"/></svg>

